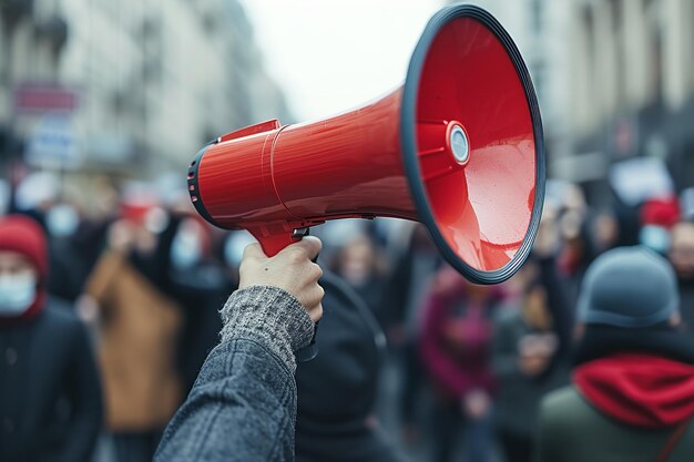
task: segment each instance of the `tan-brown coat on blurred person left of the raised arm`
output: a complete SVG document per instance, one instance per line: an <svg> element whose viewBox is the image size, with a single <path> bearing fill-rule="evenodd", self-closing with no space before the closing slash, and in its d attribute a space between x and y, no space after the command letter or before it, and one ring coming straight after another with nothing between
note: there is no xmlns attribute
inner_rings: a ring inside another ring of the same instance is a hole
<svg viewBox="0 0 694 462"><path fill-rule="evenodd" d="M182 399L181 310L127 259L105 253L88 281L100 308L99 362L111 431L162 429Z"/></svg>

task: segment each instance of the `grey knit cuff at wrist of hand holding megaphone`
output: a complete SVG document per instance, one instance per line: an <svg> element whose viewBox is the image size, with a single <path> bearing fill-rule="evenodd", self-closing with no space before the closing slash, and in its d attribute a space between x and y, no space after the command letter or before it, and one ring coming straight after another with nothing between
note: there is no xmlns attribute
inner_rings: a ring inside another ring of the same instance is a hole
<svg viewBox="0 0 694 462"><path fill-rule="evenodd" d="M220 312L224 322L222 342L258 341L277 355L292 373L296 370L294 351L310 343L314 335L314 322L306 309L278 287L251 286L236 290Z"/></svg>

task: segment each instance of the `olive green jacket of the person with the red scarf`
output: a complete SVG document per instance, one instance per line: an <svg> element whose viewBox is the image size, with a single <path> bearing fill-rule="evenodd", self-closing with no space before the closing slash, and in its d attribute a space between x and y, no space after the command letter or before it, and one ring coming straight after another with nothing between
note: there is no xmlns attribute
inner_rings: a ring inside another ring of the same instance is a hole
<svg viewBox="0 0 694 462"><path fill-rule="evenodd" d="M627 427L565 387L542 401L535 462L655 462L673 431ZM694 461L694 424L667 461Z"/></svg>

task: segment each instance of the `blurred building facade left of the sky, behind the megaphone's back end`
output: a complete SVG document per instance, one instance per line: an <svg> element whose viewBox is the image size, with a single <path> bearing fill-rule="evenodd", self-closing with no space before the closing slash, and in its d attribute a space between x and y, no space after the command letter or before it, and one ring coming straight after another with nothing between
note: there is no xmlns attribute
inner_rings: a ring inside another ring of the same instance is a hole
<svg viewBox="0 0 694 462"><path fill-rule="evenodd" d="M152 173L292 119L236 0L7 0L0 24L6 158Z"/></svg>

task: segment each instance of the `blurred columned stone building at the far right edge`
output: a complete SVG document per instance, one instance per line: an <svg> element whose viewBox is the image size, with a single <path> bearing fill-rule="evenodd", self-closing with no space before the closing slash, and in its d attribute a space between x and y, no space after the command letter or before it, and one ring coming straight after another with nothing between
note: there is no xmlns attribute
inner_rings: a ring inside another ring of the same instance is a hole
<svg viewBox="0 0 694 462"><path fill-rule="evenodd" d="M677 189L693 185L694 1L574 0L572 9L576 158L601 153L600 177L614 162L657 157Z"/></svg>

